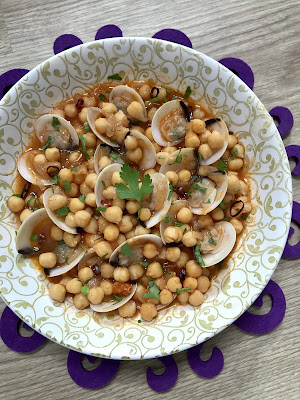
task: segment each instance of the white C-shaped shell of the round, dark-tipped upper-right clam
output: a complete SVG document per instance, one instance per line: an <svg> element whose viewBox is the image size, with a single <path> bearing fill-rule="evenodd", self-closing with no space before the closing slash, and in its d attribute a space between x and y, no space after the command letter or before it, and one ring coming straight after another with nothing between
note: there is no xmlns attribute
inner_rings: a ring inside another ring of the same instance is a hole
<svg viewBox="0 0 300 400"><path fill-rule="evenodd" d="M164 103L162 106L159 107L159 109L154 114L154 117L153 117L153 120L151 123L152 136L153 136L153 139L156 141L156 143L158 143L160 146L167 146L168 144L175 145L175 144L181 143L185 138L185 135L184 135L182 138L171 142L171 141L168 141L162 135L162 133L160 131L160 123L161 123L162 119L165 117L166 114L168 114L169 112L173 111L176 108L181 109L180 100L172 100L172 101L168 101L167 103Z"/></svg>

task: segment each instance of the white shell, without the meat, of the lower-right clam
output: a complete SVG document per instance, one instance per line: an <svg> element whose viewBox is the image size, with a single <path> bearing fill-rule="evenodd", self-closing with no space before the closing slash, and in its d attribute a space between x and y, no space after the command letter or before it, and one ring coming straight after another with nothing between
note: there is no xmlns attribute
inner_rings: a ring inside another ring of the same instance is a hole
<svg viewBox="0 0 300 400"><path fill-rule="evenodd" d="M221 221L214 225L214 228L221 235L216 246L209 242L199 242L194 249L195 259L197 261L197 246L200 244L200 253L204 265L203 268L211 267L212 265L218 264L231 252L236 241L236 231L230 222ZM198 246L199 247L199 246Z"/></svg>

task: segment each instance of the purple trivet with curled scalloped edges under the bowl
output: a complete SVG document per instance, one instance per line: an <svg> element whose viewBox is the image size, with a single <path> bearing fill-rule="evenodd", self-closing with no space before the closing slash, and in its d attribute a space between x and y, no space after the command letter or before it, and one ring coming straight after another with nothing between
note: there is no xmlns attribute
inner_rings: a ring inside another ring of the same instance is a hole
<svg viewBox="0 0 300 400"><path fill-rule="evenodd" d="M109 37L121 37L122 30L116 25L102 26L96 33L95 39L105 39ZM163 29L153 35L153 38L169 40L192 48L190 39L177 29ZM72 34L59 36L53 46L55 54L68 48L81 44L79 37ZM254 75L248 64L237 58L224 58L220 63L225 65L236 75L238 75L251 89L254 86ZM28 70L14 69L0 75L0 99L5 93L21 79ZM282 136L286 135L293 126L293 116L285 107L275 107L270 111L270 114L279 123L278 129ZM293 170L295 175L300 174L300 146L288 146L287 153L289 157L296 158L296 167ZM300 223L300 205L294 202L292 219ZM291 228L289 237L294 230ZM287 242L283 255L285 257L296 258L300 257L300 243L295 246L290 246ZM286 303L282 290L273 281L270 281L262 294L257 298L254 305L261 307L263 304L264 295L272 297L271 310L265 315L254 315L250 312L245 312L236 322L236 326L245 332L263 334L275 329L282 321ZM34 332L31 337L22 337L19 333L19 326L22 321L8 308L3 311L0 319L0 335L3 342L12 350L17 352L30 352L40 347L45 338L39 333ZM23 327L30 329L25 323ZM221 350L214 347L209 360L203 361L200 358L200 350L203 343L188 350L188 362L192 370L203 378L213 378L217 376L223 369L224 357ZM82 366L84 355L70 350L67 367L70 377L73 381L87 389L99 389L107 385L117 374L120 361L102 359L101 364L92 371L87 371ZM95 357L86 356L90 363L96 361ZM147 369L147 383L151 389L156 392L165 392L174 387L178 378L178 367L173 356L160 357L158 360L164 364L165 371L161 375L153 373L151 368Z"/></svg>

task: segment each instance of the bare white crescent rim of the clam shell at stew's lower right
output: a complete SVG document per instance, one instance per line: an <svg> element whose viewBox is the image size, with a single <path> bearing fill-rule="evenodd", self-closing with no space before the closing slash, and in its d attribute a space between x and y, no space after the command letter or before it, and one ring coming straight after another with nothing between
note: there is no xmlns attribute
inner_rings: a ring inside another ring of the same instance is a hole
<svg viewBox="0 0 300 400"><path fill-rule="evenodd" d="M236 231L233 225L230 222L221 221L215 224L215 227L217 228L220 225L222 225L224 228L224 236L222 241L214 251L208 254L201 254L205 263L202 268L211 267L212 265L218 264L224 260L224 258L228 256L235 245Z"/></svg>

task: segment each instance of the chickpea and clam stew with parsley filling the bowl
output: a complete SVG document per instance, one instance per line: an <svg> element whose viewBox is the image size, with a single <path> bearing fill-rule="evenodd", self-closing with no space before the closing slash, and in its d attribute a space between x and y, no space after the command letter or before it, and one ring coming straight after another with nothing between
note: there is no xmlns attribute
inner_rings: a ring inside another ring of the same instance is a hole
<svg viewBox="0 0 300 400"><path fill-rule="evenodd" d="M36 121L8 200L17 250L79 310L200 306L252 209L244 160L190 87L99 84Z"/></svg>

